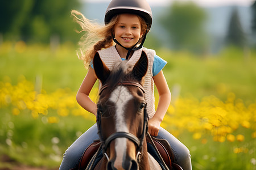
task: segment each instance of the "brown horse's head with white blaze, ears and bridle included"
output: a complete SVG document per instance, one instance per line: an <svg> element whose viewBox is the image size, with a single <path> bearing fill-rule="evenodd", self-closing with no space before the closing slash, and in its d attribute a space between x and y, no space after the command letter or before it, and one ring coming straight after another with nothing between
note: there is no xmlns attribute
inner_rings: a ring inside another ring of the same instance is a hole
<svg viewBox="0 0 256 170"><path fill-rule="evenodd" d="M148 59L144 52L133 66L118 63L110 71L98 53L94 71L102 87L97 103L98 134L108 159L108 169L138 169L142 143L147 131L143 76ZM146 144L144 144L146 145Z"/></svg>

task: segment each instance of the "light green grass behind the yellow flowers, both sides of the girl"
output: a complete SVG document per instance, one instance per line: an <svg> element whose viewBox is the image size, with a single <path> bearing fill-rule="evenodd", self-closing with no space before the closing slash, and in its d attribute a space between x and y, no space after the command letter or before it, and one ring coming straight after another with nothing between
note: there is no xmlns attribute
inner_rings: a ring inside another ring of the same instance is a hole
<svg viewBox="0 0 256 170"><path fill-rule="evenodd" d="M216 56L200 57L187 52L157 50L158 56L168 61L164 75L170 89L180 86L180 95L195 97L216 95L224 98L234 92L242 99L256 96L256 52L245 60L238 49L226 49ZM4 43L0 46L0 80L9 76L16 84L20 75L35 82L47 92L57 88L77 91L86 69L77 58L76 48L64 44L52 51L49 46Z"/></svg>

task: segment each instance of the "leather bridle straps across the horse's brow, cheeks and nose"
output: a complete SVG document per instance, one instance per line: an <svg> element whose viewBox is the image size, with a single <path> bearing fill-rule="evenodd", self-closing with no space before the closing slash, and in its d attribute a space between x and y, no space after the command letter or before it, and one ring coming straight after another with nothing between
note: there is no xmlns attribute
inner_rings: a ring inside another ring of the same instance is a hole
<svg viewBox="0 0 256 170"><path fill-rule="evenodd" d="M136 82L119 82L117 85L119 86L135 86L138 88L141 88L143 93L145 93L144 88L142 87L141 84L136 83ZM99 95L101 95L102 91L104 91L106 88L109 87L109 84L105 84L104 86L101 87ZM112 142L116 138L127 138L130 139L135 143L137 146L137 162L141 161L141 154L142 154L142 146L143 146L143 140L146 137L147 134L147 129L148 129L148 114L146 110L146 106L144 107L144 112L143 112L143 129L142 129L142 134L140 137L136 137L134 134L127 133L125 131L118 131L110 135L106 140L103 139L102 134L101 134L101 115L99 112L99 109L97 110L97 126L98 126L98 136L100 137L101 145L102 145L102 152L106 156L106 158L109 160L108 155L106 154L106 149L109 147L110 142Z"/></svg>

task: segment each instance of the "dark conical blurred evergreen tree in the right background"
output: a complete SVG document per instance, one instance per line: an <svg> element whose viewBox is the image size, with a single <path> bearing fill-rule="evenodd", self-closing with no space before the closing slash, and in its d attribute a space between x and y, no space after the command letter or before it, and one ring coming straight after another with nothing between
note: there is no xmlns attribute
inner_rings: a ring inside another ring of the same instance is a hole
<svg viewBox="0 0 256 170"><path fill-rule="evenodd" d="M226 36L226 43L228 45L239 46L241 48L246 45L245 33L243 32L243 28L238 15L238 10L236 7L233 8L230 17L228 33Z"/></svg>

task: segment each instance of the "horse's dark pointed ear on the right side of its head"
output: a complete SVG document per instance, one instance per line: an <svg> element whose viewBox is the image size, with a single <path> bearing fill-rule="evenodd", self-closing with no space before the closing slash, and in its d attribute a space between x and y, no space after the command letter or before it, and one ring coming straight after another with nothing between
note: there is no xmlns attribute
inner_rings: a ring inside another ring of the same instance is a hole
<svg viewBox="0 0 256 170"><path fill-rule="evenodd" d="M135 63L133 67L133 71L131 73L133 74L134 78L141 82L144 75L147 73L147 67L148 67L148 59L145 52L142 51L141 58Z"/></svg>

